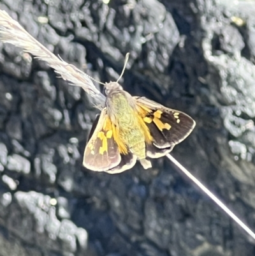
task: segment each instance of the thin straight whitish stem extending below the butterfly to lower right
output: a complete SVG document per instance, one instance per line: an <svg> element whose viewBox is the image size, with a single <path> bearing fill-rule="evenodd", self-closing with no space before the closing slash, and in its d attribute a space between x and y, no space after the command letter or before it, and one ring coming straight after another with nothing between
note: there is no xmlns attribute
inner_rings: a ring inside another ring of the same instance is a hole
<svg viewBox="0 0 255 256"><path fill-rule="evenodd" d="M208 190L200 181L198 181L198 179L196 179L196 177L194 177L186 168L184 168L175 158L173 158L173 156L171 156L171 154L166 154L166 156L171 160L171 162L173 162L177 167L180 168L180 170L182 170L182 172L184 172L184 174L187 175L187 177L189 177L189 179L191 179L192 181L194 181L194 183L196 183L201 190L203 190L203 192L205 192L212 200L214 200L214 202L221 207L231 218L233 218L233 220L235 220L235 222L238 223L238 225L240 225L240 227L242 227L242 229L244 229L253 239L255 239L255 234L254 232L252 232L251 229L249 229L249 227L247 227L247 225L245 225L244 222L242 222L242 220L240 220L240 218L237 217L237 215L235 215L232 211L230 211L230 209L228 207L226 207L221 200L219 200L217 197L215 197L215 195L210 192L210 190Z"/></svg>

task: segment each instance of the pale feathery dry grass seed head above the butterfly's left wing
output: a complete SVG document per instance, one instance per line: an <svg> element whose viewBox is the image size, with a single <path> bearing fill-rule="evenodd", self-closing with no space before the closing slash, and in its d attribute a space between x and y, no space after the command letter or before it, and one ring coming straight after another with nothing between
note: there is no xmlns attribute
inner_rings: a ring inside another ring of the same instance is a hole
<svg viewBox="0 0 255 256"><path fill-rule="evenodd" d="M20 47L36 58L46 61L62 79L68 80L73 86L82 87L86 93L96 99L96 102L105 101L105 96L96 89L89 75L55 56L3 10L0 10L0 40ZM101 109L99 105L96 107Z"/></svg>

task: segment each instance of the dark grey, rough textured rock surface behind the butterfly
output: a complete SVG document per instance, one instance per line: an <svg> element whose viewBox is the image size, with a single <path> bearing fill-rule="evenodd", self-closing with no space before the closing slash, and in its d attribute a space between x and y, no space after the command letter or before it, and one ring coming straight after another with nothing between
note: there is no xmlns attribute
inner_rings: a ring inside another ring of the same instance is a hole
<svg viewBox="0 0 255 256"><path fill-rule="evenodd" d="M197 123L175 156L255 229L255 2L22 1L0 9L103 82ZM0 44L0 255L254 255L254 241L166 159L82 167L96 110L47 64Z"/></svg>

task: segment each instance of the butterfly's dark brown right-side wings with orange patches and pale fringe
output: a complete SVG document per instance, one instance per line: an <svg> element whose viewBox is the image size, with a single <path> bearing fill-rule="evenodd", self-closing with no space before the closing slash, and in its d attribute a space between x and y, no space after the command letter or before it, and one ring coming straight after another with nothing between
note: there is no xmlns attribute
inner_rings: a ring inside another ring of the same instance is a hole
<svg viewBox="0 0 255 256"><path fill-rule="evenodd" d="M195 126L195 121L178 110L168 109L145 97L134 97L138 112L147 124L153 137L147 145L147 156L159 158L169 153L173 147L186 139Z"/></svg>

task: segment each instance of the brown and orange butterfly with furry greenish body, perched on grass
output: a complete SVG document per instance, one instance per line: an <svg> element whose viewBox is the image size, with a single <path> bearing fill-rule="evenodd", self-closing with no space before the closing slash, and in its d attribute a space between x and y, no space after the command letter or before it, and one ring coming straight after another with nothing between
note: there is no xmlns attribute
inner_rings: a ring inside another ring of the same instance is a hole
<svg viewBox="0 0 255 256"><path fill-rule="evenodd" d="M87 169L110 174L131 169L137 160L144 169L152 167L148 158L168 154L196 124L184 112L131 96L118 80L105 84L105 107L92 125L83 161Z"/></svg>

